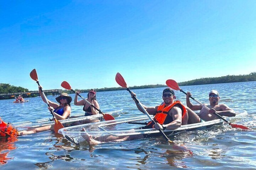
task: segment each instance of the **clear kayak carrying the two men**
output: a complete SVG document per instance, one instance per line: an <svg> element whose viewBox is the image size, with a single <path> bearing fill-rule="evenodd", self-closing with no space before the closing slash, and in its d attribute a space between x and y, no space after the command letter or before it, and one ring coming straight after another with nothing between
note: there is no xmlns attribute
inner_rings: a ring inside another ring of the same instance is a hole
<svg viewBox="0 0 256 170"><path fill-rule="evenodd" d="M236 112L236 116L225 117L226 120L233 122L236 119L241 118L242 116L247 114L246 110L242 110L242 109L234 109L234 110ZM147 135L159 134L159 136L161 135L160 132L155 128L130 130L131 128L137 128L145 125L145 122L149 122L149 118L146 115L136 116L131 118L124 118L124 119L118 119L118 120L110 120L110 121L104 121L104 122L96 122L96 123L66 127L66 128L59 129L59 133L62 134L67 140L77 145L87 144L87 142L85 141L85 138L83 138L83 135L85 135L86 132L94 137L99 137L99 136L104 137L108 135L130 136L130 135L139 135L139 134L147 134ZM224 123L225 122L223 120L216 119L208 122L182 125L180 128L177 128L175 130L165 130L164 133L173 134L173 133L178 133L180 131L196 130L199 128L200 129L209 128L213 125L224 124ZM135 127L130 124L140 124L140 125L137 125L137 127ZM83 128L86 129L86 132L82 131Z"/></svg>

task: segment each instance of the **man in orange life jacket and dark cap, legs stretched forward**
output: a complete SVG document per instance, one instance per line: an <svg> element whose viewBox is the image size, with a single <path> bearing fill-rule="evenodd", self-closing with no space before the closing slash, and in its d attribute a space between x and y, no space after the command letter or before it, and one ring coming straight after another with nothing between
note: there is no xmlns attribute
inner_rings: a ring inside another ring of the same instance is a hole
<svg viewBox="0 0 256 170"><path fill-rule="evenodd" d="M135 96L135 93L131 93L131 96ZM186 125L188 120L188 113L183 104L181 104L180 101L174 101L176 99L176 96L174 94L173 89L171 88L165 88L163 91L162 99L164 102L155 107L144 107L144 109L151 115L154 115L154 120L157 122L155 125L151 121L144 127L140 127L140 129L146 129L146 128L156 128L157 130L165 130L170 129L174 130L181 125ZM142 112L143 110L139 107L136 100L134 100L136 103L137 108ZM85 129L84 129L85 131ZM83 135L83 138L88 142L88 144L99 144L102 142L108 142L108 141L128 141L128 140L135 140L139 138L146 138L146 137L154 137L159 136L159 134L139 134L139 135L132 135L132 136L124 136L124 137L116 137L116 136L108 136L106 137L92 137L88 133L85 133L86 135Z"/></svg>

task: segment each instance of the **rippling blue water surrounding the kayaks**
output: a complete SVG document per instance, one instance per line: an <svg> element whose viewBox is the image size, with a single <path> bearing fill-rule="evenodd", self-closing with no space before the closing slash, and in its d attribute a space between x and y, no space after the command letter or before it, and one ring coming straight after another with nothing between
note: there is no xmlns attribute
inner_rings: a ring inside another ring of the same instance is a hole
<svg viewBox="0 0 256 170"><path fill-rule="evenodd" d="M248 116L238 119L235 124L248 126L254 131L216 125L207 131L169 136L171 140L185 146L182 150L167 144L162 137L76 147L47 131L18 139L0 139L0 169L256 169L256 82L181 88L190 91L202 103L208 103L210 90L218 90L221 102L232 108L247 110ZM162 103L163 89L139 89L134 92L142 104L156 106ZM177 99L185 104L185 94L179 91L175 93ZM82 96L86 97L86 94ZM48 98L55 101L55 97ZM21 122L51 118L41 98L28 99L29 102L22 104L14 104L13 100L0 100L2 119L6 122ZM142 115L128 91L98 92L97 99L104 112L123 108L120 117ZM81 111L82 107L72 104L72 113Z"/></svg>

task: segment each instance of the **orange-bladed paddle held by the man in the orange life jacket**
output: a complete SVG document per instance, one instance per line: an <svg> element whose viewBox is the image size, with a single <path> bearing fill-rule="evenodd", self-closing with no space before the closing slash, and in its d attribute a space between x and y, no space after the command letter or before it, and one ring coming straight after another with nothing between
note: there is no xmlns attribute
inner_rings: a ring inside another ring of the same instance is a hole
<svg viewBox="0 0 256 170"><path fill-rule="evenodd" d="M123 79L123 76L120 73L117 73L116 75L116 82L117 84L119 84L121 87L126 88L127 91L129 91L129 93L131 94L132 92L130 91L130 88L127 87L125 80ZM149 115L149 113L146 111L146 109L141 105L141 103L139 102L139 100L137 99L137 97L133 96L133 99L136 100L136 103L138 103L139 107L143 110L143 112L149 117L149 119L156 124L155 120L152 119L152 117ZM174 143L173 141L171 141L166 135L165 133L159 129L160 133L163 135L163 137L165 138L166 141L170 142L170 143Z"/></svg>

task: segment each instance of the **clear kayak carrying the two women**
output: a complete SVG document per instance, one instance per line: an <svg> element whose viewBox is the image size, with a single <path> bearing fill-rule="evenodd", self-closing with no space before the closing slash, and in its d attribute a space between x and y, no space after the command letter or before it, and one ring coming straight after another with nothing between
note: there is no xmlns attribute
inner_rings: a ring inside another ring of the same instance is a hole
<svg viewBox="0 0 256 170"><path fill-rule="evenodd" d="M120 113L123 109L119 109L119 110L115 110L115 111L111 111L111 112L106 112L104 114L114 114L114 113ZM81 114L75 114L72 116L76 116L75 118L71 118L71 119L64 119L64 120L59 120L59 122L61 122L62 124L72 124L73 122L78 122L78 121L85 121L85 120L89 120L89 119L103 119L103 115L102 114L97 114L97 115L92 115L92 116L84 116L85 113L81 113ZM18 131L21 130L25 130L28 128L36 128L36 127L41 127L41 126L46 126L46 125L54 125L54 121L51 121L49 118L48 119L38 119L34 122L30 122L30 121L26 121L26 122L17 122L17 123L12 123L11 125L15 126Z"/></svg>

